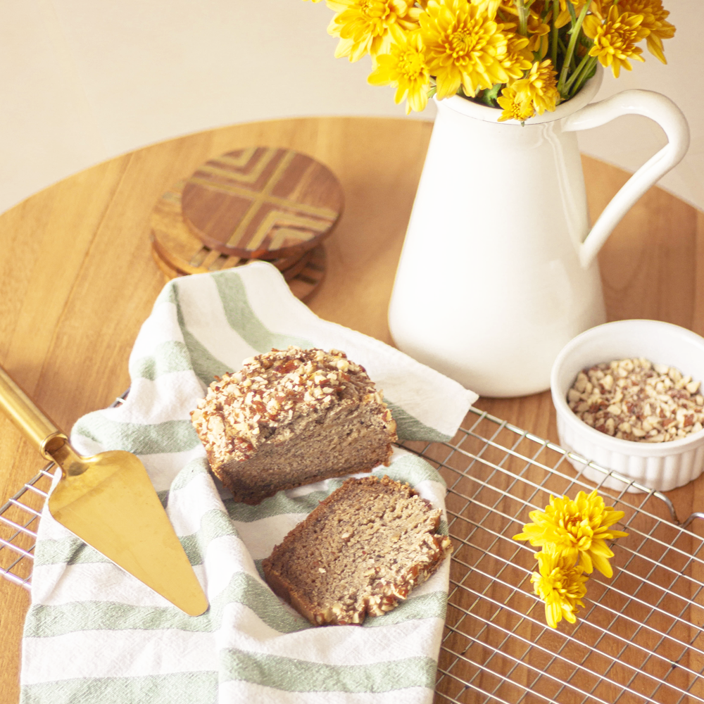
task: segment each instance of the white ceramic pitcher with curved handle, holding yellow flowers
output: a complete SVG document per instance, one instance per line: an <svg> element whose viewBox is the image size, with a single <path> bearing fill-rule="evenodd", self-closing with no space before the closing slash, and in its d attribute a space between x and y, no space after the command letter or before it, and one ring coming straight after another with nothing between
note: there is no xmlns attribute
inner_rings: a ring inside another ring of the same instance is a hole
<svg viewBox="0 0 704 704"><path fill-rule="evenodd" d="M436 101L389 326L398 348L482 396L548 389L560 349L605 322L596 254L689 146L684 115L658 93L588 104L601 77L524 126L459 96ZM658 122L668 144L590 230L575 132L627 113Z"/></svg>

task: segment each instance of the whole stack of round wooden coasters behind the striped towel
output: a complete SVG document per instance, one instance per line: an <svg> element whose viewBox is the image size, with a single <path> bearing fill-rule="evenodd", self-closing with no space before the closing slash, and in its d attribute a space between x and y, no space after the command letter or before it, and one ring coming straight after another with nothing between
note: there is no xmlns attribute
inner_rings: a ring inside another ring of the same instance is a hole
<svg viewBox="0 0 704 704"><path fill-rule="evenodd" d="M161 196L151 214L152 255L167 280L266 260L305 300L325 275L322 241L343 202L334 174L306 154L232 151Z"/></svg>

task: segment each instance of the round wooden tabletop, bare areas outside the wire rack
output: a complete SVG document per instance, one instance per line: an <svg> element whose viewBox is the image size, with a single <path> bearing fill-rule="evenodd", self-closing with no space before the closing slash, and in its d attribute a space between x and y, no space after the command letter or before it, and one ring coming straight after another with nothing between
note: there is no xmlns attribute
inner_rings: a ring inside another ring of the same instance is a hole
<svg viewBox="0 0 704 704"><path fill-rule="evenodd" d="M432 124L305 118L174 139L89 168L0 215L0 363L59 427L108 406L130 384L127 358L164 279L149 214L173 182L211 156L253 144L315 156L338 175L346 209L327 242L328 271L310 308L391 343L386 307ZM584 158L592 218L627 179ZM609 320L654 318L704 334L704 213L651 189L599 257ZM489 399L482 409L557 441L549 393ZM43 465L0 419L0 498ZM671 493L680 515L703 508L704 477ZM0 579L0 701L18 700L28 593Z"/></svg>

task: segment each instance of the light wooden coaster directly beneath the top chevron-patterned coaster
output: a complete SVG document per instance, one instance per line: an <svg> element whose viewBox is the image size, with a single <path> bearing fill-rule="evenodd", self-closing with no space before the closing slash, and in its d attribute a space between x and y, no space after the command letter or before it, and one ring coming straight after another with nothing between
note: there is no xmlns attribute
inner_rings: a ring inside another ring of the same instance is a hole
<svg viewBox="0 0 704 704"><path fill-rule="evenodd" d="M152 243L161 259L170 268L184 274L204 274L209 271L230 269L247 263L249 259L227 256L207 247L185 225L181 213L181 193L185 184L181 180L161 196L151 213ZM291 268L301 259L301 254L272 260L279 270ZM304 263L301 263L303 268Z"/></svg>

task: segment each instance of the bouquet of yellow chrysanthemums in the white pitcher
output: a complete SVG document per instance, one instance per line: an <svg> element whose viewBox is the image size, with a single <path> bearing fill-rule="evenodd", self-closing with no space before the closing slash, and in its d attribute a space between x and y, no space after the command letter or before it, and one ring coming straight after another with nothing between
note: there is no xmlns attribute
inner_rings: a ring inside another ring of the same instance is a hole
<svg viewBox="0 0 704 704"><path fill-rule="evenodd" d="M313 0L320 2L320 0ZM596 63L631 70L643 40L663 63L674 25L662 0L326 0L337 58L370 54L369 82L406 112L458 94L524 122L554 111Z"/></svg>

